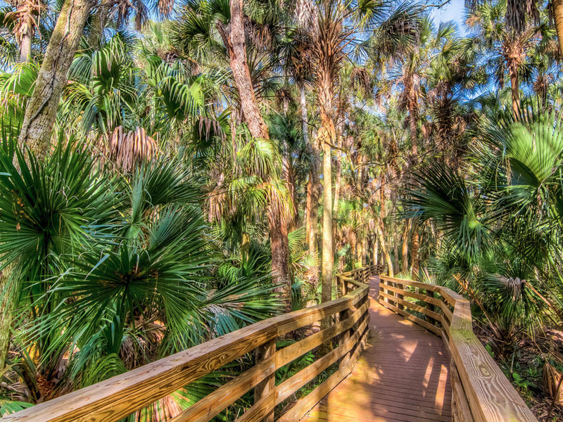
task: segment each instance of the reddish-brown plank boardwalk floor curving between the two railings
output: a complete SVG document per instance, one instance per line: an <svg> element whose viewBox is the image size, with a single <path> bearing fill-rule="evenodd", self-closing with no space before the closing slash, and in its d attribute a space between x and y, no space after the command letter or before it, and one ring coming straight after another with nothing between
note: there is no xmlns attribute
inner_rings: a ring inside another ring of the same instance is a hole
<svg viewBox="0 0 563 422"><path fill-rule="evenodd" d="M452 421L450 357L441 338L379 305L379 277L369 284L369 344L353 373L302 421Z"/></svg>

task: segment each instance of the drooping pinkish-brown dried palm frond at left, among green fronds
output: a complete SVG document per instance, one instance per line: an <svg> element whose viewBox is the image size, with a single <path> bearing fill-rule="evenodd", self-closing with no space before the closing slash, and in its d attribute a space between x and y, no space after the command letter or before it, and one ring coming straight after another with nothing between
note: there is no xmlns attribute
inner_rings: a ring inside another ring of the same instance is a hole
<svg viewBox="0 0 563 422"><path fill-rule="evenodd" d="M108 158L125 172L130 172L140 162L151 160L158 151L156 141L142 127L129 132L122 126L116 127L107 147Z"/></svg>

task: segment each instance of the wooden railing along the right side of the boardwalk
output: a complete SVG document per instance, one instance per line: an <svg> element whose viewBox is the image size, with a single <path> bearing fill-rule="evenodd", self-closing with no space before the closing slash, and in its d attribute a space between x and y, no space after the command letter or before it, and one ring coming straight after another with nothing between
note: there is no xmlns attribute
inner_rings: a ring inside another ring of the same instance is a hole
<svg viewBox="0 0 563 422"><path fill-rule="evenodd" d="M473 333L467 299L442 286L380 276L379 303L442 336L455 422L537 422Z"/></svg>

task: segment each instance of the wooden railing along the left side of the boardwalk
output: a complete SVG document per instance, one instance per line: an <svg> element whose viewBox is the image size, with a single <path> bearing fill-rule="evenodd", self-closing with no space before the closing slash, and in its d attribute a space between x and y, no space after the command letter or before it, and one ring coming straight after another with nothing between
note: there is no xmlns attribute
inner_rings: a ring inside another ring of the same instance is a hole
<svg viewBox="0 0 563 422"><path fill-rule="evenodd" d="M365 346L369 335L369 287L365 281L372 272L375 267L339 274L336 280L341 294L336 300L257 322L120 376L5 416L2 421L118 421L180 388L189 388L198 378L251 352L255 353L255 364L251 369L185 409L171 422L209 421L252 391L252 407L236 422L274 421L278 404L338 363L338 368L326 381L298 399L293 407L278 412L281 413L277 416L279 422L298 421L350 373ZM327 328L276 349L276 340L280 337L327 318L331 321ZM338 343L333 345L335 340ZM323 344L329 344L329 352L275 385L277 369Z"/></svg>

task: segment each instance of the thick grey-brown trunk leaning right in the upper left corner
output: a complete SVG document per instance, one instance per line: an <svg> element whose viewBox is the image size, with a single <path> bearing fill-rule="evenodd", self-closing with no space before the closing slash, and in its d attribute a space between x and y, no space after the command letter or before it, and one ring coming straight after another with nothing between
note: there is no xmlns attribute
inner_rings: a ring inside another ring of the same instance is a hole
<svg viewBox="0 0 563 422"><path fill-rule="evenodd" d="M30 148L39 161L43 160L49 151L51 132L67 81L68 69L92 5L91 0L65 0L63 3L35 82L32 98L25 110L18 143L20 148Z"/></svg>

